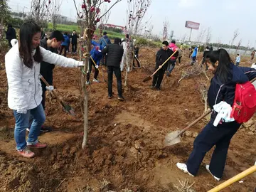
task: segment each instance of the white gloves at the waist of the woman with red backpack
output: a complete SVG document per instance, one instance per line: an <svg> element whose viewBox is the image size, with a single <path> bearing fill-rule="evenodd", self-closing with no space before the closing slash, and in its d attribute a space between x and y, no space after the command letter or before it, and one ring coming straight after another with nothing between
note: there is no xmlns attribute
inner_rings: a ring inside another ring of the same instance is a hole
<svg viewBox="0 0 256 192"><path fill-rule="evenodd" d="M227 103L221 101L220 103L213 106L213 110L218 112L217 117L215 118L213 125L215 127L218 126L220 120L222 119L223 122L234 122L234 118L230 118L230 114L232 112L232 107Z"/></svg>

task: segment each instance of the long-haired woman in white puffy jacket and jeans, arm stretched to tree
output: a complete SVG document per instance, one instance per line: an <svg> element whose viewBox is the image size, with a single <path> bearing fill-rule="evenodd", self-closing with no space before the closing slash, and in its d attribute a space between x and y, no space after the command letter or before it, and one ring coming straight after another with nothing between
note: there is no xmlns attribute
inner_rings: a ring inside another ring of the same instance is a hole
<svg viewBox="0 0 256 192"><path fill-rule="evenodd" d="M19 37L20 41L5 55L8 105L14 110L16 119L14 138L18 154L31 158L35 154L28 148L46 147L46 144L38 142L41 126L46 120L41 105L41 61L70 68L82 66L83 63L41 48L41 28L36 23L23 23ZM31 116L33 122L26 142L26 128Z"/></svg>

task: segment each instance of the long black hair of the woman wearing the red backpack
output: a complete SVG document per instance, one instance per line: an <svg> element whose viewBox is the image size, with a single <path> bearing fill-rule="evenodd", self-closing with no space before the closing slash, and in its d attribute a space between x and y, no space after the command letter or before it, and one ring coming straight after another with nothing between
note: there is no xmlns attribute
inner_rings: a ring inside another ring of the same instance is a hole
<svg viewBox="0 0 256 192"><path fill-rule="evenodd" d="M215 63L218 61L218 67L216 68ZM221 82L228 83L233 78L233 73L231 70L231 60L230 55L227 50L220 48L219 50L212 50L206 54L206 62L210 62L214 68L216 68L215 75L218 75Z"/></svg>

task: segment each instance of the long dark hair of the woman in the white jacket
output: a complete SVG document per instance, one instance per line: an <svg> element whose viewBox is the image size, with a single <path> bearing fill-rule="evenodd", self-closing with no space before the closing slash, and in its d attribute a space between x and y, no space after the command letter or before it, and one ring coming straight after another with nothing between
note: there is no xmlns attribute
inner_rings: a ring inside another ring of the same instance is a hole
<svg viewBox="0 0 256 192"><path fill-rule="evenodd" d="M28 68L33 68L32 38L38 32L41 32L41 28L33 21L23 23L20 29L20 42L18 50L21 58L23 59L24 65L26 65ZM39 46L36 48L36 53L33 55L33 58L38 63L41 63L43 60Z"/></svg>

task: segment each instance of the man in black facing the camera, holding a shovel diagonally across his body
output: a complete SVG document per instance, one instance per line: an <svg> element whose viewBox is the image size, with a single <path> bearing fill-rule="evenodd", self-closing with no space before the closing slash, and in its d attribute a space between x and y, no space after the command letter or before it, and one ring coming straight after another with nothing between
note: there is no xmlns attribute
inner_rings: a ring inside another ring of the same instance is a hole
<svg viewBox="0 0 256 192"><path fill-rule="evenodd" d="M155 71L161 67L161 65L174 53L173 50L169 49L169 43L164 41L162 48L156 53L156 68ZM168 63L166 63L161 69L154 75L151 89L160 90L161 82L164 78L164 73L167 70Z"/></svg>

